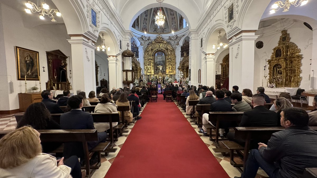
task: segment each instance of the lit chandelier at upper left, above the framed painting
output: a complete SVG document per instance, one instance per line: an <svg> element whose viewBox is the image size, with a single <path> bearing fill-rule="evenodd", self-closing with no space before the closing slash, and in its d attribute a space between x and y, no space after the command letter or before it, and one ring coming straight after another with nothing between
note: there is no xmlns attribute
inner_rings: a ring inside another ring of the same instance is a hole
<svg viewBox="0 0 317 178"><path fill-rule="evenodd" d="M31 14L31 12L36 13L39 12L40 14L40 19L44 20L44 16L47 15L50 18L52 18L52 22L56 22L56 20L54 19L55 16L53 16L53 14L55 13L56 16L61 16L61 13L58 12L57 9L51 9L49 10L49 5L47 3L45 3L45 0L41 0L41 6L39 6L38 2L37 4L32 3L31 1L28 1L28 3L25 3L26 7L28 9L24 9L26 13Z"/></svg>

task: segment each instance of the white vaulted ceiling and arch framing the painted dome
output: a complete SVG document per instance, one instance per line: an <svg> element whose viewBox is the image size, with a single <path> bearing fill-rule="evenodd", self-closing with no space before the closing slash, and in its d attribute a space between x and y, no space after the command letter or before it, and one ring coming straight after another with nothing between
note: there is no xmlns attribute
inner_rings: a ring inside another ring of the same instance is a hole
<svg viewBox="0 0 317 178"><path fill-rule="evenodd" d="M185 18L190 28L195 29L207 1L209 0L165 0L161 7L177 11ZM124 22L125 29L131 29L134 20L142 12L160 5L156 0L115 0L113 3Z"/></svg>

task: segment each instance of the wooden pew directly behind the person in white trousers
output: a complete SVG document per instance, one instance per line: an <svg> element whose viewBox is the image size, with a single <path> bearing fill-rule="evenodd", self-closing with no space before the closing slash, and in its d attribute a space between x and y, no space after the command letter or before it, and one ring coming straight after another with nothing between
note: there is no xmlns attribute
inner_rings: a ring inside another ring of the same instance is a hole
<svg viewBox="0 0 317 178"><path fill-rule="evenodd" d="M220 121L236 121L237 124L240 123L241 118L242 118L243 112L209 112L209 121L210 122L216 122L216 128L213 127L210 124L205 124L204 126L208 126L206 128L210 128L210 133L209 133L209 140L210 141L215 141L217 148L219 148L219 123ZM211 129L216 131L216 138L212 137L211 134ZM221 140L228 140L228 139L221 139Z"/></svg>

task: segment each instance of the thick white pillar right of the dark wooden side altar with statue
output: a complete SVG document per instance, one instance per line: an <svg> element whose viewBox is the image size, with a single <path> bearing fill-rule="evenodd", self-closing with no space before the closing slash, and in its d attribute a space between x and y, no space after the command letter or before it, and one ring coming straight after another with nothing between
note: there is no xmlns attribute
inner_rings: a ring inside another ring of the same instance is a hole
<svg viewBox="0 0 317 178"><path fill-rule="evenodd" d="M91 40L81 36L71 37L68 42L72 47L72 76L74 94L76 90L85 91L87 96L90 91L96 90L95 76L95 49Z"/></svg>

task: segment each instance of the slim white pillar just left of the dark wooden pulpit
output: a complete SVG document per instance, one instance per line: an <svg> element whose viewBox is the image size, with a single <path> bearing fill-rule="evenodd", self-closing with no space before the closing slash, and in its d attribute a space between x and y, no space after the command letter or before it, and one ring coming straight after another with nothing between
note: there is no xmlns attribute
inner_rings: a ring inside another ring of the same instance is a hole
<svg viewBox="0 0 317 178"><path fill-rule="evenodd" d="M117 56L108 56L108 66L109 66L109 88L116 87L120 88L121 86L118 83L118 58Z"/></svg>

